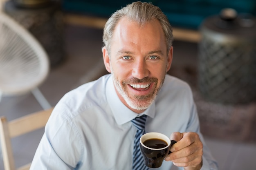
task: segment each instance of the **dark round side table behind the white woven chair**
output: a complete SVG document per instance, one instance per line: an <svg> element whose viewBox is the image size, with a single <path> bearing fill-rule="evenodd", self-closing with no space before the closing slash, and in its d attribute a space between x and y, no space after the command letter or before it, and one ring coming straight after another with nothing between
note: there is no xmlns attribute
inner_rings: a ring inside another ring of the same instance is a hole
<svg viewBox="0 0 256 170"><path fill-rule="evenodd" d="M56 66L63 60L63 15L58 3L51 1L47 5L22 7L9 0L4 4L4 12L24 26L42 44L51 66Z"/></svg>

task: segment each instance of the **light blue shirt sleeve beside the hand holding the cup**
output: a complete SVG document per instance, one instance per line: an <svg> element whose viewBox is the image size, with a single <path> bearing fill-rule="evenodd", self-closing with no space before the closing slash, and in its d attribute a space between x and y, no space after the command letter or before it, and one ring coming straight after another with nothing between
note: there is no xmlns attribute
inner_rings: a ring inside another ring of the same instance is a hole
<svg viewBox="0 0 256 170"><path fill-rule="evenodd" d="M190 121L189 121L189 124L187 127L187 132L197 132L202 141L202 144L203 144L203 157L202 157L203 166L202 166L201 170L218 170L218 163L211 155L211 152L210 152L208 146L206 145L204 138L200 132L200 123L199 123L198 113L197 113L195 103L193 103L193 106L191 108L191 117L190 117Z"/></svg>

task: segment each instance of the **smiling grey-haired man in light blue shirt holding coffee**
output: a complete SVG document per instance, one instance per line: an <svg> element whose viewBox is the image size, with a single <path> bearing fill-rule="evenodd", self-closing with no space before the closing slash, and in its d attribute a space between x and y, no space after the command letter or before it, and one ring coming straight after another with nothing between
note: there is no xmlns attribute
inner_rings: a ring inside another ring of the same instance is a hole
<svg viewBox="0 0 256 170"><path fill-rule="evenodd" d="M131 120L141 115L147 115L145 132L177 141L159 169L217 169L189 86L166 75L172 41L171 25L158 7L134 2L115 12L103 33L103 60L111 74L58 102L31 170L132 170L137 129Z"/></svg>

